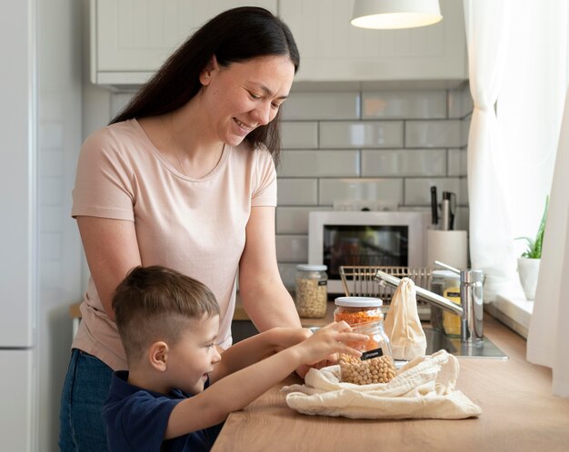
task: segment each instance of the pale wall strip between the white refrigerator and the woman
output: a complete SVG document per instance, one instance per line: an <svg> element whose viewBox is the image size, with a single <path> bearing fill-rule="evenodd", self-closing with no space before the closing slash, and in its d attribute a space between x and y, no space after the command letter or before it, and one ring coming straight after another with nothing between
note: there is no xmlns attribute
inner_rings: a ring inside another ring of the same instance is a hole
<svg viewBox="0 0 569 452"><path fill-rule="evenodd" d="M82 247L70 217L81 145L82 5L37 0L39 300L37 444L56 451L69 362L69 306L82 292Z"/></svg>

